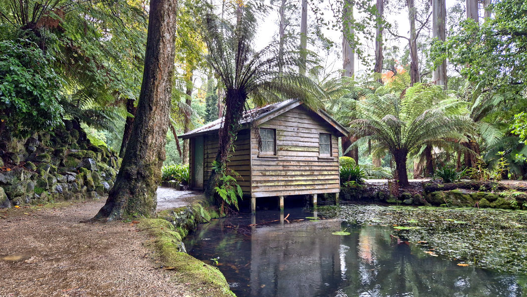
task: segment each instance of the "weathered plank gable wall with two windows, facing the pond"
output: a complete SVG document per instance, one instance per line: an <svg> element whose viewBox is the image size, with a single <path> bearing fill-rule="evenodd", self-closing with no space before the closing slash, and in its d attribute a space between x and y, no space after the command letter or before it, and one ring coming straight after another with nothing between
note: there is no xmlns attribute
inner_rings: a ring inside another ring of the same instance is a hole
<svg viewBox="0 0 527 297"><path fill-rule="evenodd" d="M276 158L259 157L258 128L276 129ZM335 128L302 106L250 130L251 196L338 193L338 137ZM320 156L319 133L331 133L331 156Z"/></svg>

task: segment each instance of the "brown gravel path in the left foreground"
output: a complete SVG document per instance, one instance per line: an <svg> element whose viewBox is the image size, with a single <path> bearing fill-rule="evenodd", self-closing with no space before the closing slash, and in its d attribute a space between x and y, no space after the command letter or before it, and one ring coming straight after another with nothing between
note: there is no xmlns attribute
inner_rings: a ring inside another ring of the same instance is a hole
<svg viewBox="0 0 527 297"><path fill-rule="evenodd" d="M192 295L159 269L134 224L80 223L103 204L1 210L0 296Z"/></svg>

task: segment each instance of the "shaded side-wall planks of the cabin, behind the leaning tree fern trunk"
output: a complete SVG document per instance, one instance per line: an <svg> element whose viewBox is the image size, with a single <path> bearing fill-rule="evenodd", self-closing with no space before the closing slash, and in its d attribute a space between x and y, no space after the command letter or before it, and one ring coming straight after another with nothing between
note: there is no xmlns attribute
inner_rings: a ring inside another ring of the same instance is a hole
<svg viewBox="0 0 527 297"><path fill-rule="evenodd" d="M230 162L228 167L240 174L241 178L237 178L243 193L250 194L251 186L251 171L250 171L250 143L249 143L249 129L238 132L238 137L235 141L235 151L231 151ZM204 181L207 185L209 176L212 170L212 161L216 160L218 154L218 134L210 133L204 137Z"/></svg>

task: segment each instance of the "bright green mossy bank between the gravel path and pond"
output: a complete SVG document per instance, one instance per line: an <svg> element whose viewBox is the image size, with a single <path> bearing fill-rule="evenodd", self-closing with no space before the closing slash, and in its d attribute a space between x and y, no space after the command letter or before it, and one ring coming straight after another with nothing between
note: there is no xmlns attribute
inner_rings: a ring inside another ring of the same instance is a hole
<svg viewBox="0 0 527 297"><path fill-rule="evenodd" d="M139 229L152 236L145 244L156 253L160 268L173 271L173 280L190 286L195 296L234 296L219 269L187 254L182 243L197 224L218 217L213 207L194 202L191 206L163 210L157 218L143 218L138 224Z"/></svg>

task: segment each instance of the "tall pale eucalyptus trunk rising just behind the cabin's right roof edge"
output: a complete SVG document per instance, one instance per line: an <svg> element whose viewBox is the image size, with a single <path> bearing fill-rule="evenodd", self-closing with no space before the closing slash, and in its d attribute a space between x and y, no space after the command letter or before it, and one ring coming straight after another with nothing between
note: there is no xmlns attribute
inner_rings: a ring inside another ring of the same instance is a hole
<svg viewBox="0 0 527 297"><path fill-rule="evenodd" d="M349 44L348 39L351 39L353 34L355 34L354 28L352 26L353 20L353 2L350 0L344 1L343 15L342 15L342 68L344 69L343 75L353 78L355 75L355 51L353 47ZM351 148L348 152L346 150L357 141L356 137L350 138L345 136L341 139L340 145L342 146L342 152L345 157L351 157L358 164L359 162L359 149L358 147Z"/></svg>

